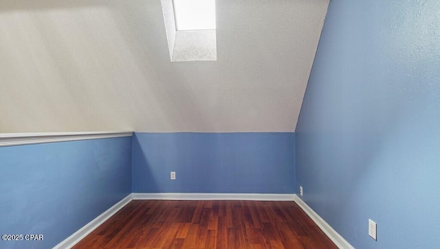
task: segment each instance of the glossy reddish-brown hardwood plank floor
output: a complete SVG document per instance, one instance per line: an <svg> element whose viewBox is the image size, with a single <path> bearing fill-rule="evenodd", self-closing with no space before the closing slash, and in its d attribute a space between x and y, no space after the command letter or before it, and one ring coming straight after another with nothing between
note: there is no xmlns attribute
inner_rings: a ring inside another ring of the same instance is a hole
<svg viewBox="0 0 440 249"><path fill-rule="evenodd" d="M295 202L133 200L74 248L336 248Z"/></svg>

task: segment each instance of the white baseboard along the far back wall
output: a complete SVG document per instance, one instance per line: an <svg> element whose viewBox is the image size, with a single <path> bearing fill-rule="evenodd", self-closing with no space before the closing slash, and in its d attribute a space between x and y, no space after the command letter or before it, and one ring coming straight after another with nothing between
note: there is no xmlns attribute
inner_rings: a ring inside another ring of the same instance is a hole
<svg viewBox="0 0 440 249"><path fill-rule="evenodd" d="M133 199L293 201L293 194L132 193Z"/></svg>

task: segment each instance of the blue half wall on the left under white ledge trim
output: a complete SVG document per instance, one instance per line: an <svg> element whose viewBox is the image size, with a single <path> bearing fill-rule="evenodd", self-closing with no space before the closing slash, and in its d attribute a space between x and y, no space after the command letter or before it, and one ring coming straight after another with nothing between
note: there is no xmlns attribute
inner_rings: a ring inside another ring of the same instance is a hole
<svg viewBox="0 0 440 249"><path fill-rule="evenodd" d="M0 147L0 248L52 248L131 193L131 138Z"/></svg>

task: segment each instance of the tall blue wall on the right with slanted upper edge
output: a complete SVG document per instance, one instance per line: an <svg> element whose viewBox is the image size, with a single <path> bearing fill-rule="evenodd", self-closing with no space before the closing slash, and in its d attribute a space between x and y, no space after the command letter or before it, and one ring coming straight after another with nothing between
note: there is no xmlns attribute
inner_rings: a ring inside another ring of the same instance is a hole
<svg viewBox="0 0 440 249"><path fill-rule="evenodd" d="M440 1L330 1L296 173L305 202L355 248L440 248L439 10Z"/></svg>

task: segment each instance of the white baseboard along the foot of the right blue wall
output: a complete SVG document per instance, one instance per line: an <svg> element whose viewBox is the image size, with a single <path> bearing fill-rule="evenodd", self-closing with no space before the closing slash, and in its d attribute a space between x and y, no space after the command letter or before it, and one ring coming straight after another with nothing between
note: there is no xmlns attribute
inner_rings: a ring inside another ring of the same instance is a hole
<svg viewBox="0 0 440 249"><path fill-rule="evenodd" d="M324 219L322 219L313 209L307 205L303 199L298 197L298 195L294 195L294 201L298 206L300 206L301 209L304 210L304 212L309 215L309 217L318 225L319 228L321 228L322 232L324 232L333 243L335 243L338 248L342 249L354 249L353 246L350 245L350 243L345 240L336 230L334 230Z"/></svg>

